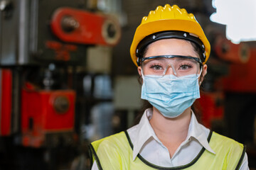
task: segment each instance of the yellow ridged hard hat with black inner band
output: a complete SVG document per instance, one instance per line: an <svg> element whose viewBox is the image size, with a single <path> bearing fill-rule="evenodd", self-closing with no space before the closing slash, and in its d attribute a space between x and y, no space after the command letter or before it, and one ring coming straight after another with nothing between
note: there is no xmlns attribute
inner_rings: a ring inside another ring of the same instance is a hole
<svg viewBox="0 0 256 170"><path fill-rule="evenodd" d="M164 38L191 40L201 46L203 64L208 60L210 43L193 13L187 13L186 9L176 5L166 4L164 7L158 6L155 11L149 12L149 16L142 18L142 23L134 34L130 48L134 64L139 65L139 57L142 57L139 54L141 47L146 47L149 43Z"/></svg>

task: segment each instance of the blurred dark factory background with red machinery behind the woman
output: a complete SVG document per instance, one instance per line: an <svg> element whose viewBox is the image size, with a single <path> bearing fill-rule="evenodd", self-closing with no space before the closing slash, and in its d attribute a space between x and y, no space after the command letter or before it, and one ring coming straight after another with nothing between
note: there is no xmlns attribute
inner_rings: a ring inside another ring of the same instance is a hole
<svg viewBox="0 0 256 170"><path fill-rule="evenodd" d="M256 42L228 40L212 0L0 0L1 170L89 169L87 145L134 124L129 47L166 3L194 13L211 44L201 123L247 145L256 169Z"/></svg>

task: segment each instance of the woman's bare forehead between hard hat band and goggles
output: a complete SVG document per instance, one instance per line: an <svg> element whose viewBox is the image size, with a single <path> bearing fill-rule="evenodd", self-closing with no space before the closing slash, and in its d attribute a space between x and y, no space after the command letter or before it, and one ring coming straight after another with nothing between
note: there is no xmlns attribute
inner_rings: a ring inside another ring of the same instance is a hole
<svg viewBox="0 0 256 170"><path fill-rule="evenodd" d="M164 39L152 42L146 50L145 57L156 55L186 55L198 57L191 42L180 39Z"/></svg>

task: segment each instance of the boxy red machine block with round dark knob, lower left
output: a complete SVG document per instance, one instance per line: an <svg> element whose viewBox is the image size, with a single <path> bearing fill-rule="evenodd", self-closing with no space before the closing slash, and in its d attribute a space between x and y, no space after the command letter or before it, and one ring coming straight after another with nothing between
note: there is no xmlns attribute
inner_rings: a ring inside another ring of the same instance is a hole
<svg viewBox="0 0 256 170"><path fill-rule="evenodd" d="M75 91L22 90L21 129L24 146L41 147L46 134L72 132Z"/></svg>

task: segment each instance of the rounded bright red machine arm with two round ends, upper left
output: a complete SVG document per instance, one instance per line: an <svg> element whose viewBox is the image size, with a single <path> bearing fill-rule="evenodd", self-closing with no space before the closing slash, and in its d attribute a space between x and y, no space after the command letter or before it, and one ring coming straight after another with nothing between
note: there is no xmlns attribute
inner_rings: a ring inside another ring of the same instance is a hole
<svg viewBox="0 0 256 170"><path fill-rule="evenodd" d="M114 18L73 8L58 8L51 28L60 40L81 44L116 45L121 35Z"/></svg>

